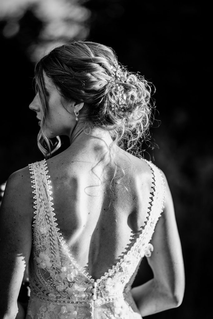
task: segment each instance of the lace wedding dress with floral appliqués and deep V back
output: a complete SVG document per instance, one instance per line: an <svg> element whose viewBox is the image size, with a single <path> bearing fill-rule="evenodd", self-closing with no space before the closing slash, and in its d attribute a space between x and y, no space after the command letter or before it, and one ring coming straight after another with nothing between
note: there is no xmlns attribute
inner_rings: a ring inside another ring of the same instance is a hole
<svg viewBox="0 0 213 319"><path fill-rule="evenodd" d="M164 180L152 171L152 192L141 234L116 265L97 280L73 259L57 227L46 160L29 164L34 199L33 243L29 259L30 300L26 319L141 319L131 285L164 204Z"/></svg>

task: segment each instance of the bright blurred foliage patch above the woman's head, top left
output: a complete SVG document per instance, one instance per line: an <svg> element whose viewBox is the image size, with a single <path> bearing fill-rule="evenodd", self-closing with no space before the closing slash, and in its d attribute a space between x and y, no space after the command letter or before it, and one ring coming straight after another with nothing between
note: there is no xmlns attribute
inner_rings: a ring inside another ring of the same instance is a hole
<svg viewBox="0 0 213 319"><path fill-rule="evenodd" d="M22 49L36 62L53 47L71 38L86 38L90 11L86 0L1 0L5 38L17 36Z"/></svg>

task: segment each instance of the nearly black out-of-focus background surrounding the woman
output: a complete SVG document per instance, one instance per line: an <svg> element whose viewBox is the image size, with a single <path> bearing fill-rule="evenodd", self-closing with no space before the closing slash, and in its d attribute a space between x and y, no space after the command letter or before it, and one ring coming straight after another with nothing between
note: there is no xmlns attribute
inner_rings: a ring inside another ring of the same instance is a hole
<svg viewBox="0 0 213 319"><path fill-rule="evenodd" d="M152 129L159 148L154 152L150 150L150 156L164 171L171 188L183 249L186 290L179 308L150 317L210 319L213 317L209 258L213 173L211 10L205 2L190 1L74 3L87 8L89 14L80 22L86 31L72 38L83 37L112 47L121 63L131 71L140 71L156 86L159 112L156 119L161 125ZM43 159L36 146L38 123L34 112L28 109L34 97L32 79L36 58L32 44L45 44L54 39L41 36L45 21L35 14L35 7L36 4L26 5L18 18L8 13L0 18L0 184L12 172ZM59 38L65 41L69 37L65 34ZM66 140L62 142L63 149ZM148 154L145 157L149 159ZM150 270L143 262L135 285L149 276Z"/></svg>

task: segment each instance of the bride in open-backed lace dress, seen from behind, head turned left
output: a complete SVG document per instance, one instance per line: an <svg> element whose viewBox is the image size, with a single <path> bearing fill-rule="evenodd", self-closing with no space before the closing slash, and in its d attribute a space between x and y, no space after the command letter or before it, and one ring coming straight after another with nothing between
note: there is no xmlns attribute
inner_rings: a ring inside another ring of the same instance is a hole
<svg viewBox="0 0 213 319"><path fill-rule="evenodd" d="M45 159L9 177L0 213L2 319L139 319L181 304L184 266L163 172L142 159L150 84L111 48L72 41L35 67ZM70 146L48 157L50 138ZM131 288L142 258L154 277ZM27 312L18 299L29 267Z"/></svg>

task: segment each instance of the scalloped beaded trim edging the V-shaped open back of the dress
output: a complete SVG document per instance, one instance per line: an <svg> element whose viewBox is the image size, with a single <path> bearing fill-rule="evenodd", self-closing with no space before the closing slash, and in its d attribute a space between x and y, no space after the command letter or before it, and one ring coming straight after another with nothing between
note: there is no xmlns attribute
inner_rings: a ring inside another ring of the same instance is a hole
<svg viewBox="0 0 213 319"><path fill-rule="evenodd" d="M124 261L124 257L125 256L129 256L133 250L135 250L139 244L140 244L140 241L141 241L141 238L143 238L144 236L144 233L145 233L145 228L147 227L147 222L149 220L149 217L150 217L150 213L151 213L151 209L152 209L152 202L153 202L153 198L154 198L154 195L155 195L155 192L156 192L156 189L155 189L155 175L154 175L154 170L150 164L150 162L148 162L148 165L149 167L151 168L152 170L152 189L153 189L153 192L150 193L151 197L151 201L149 202L150 204L150 207L148 207L149 211L148 211L148 216L147 216L147 220L144 222L144 226L141 227L141 234L139 235L139 237L136 239L136 241L134 242L133 246L127 251L127 253L123 256L123 258L121 258L118 263L116 263L115 265L112 266L111 269L108 269L107 272L104 273L103 276L101 276L101 278L99 279L93 279L92 276L90 276L88 274L88 272L86 273L85 270L82 270L82 267L79 266L79 264L74 260L74 258L72 257L72 254L70 252L70 249L68 248L68 245L66 244L65 240L64 240L64 237L62 237L62 234L60 233L60 228L58 228L58 224L57 224L57 218L54 217L56 214L53 212L54 211L54 208L52 208L51 206L53 205L53 197L51 197L50 195L52 194L52 191L50 191L50 189L52 188L52 186L50 186L49 184L51 183L51 181L49 180L50 176L47 174L48 173L48 167L47 167L47 163L46 163L46 159L43 160L43 166L44 166L44 171L45 171L45 174L46 174L46 177L47 177L47 186L48 186L48 200L49 200L49 204L50 204L50 216L53 220L53 225L55 227L55 231L56 231L56 234L57 234L57 237L59 239L59 241L61 242L63 248L65 249L67 255L70 257L71 259L71 262L74 264L74 266L76 267L76 269L78 271L80 271L87 279L89 279L92 283L96 282L96 283L100 283L103 279L109 277L109 276L112 276L114 274L115 271L118 271L121 263Z"/></svg>

